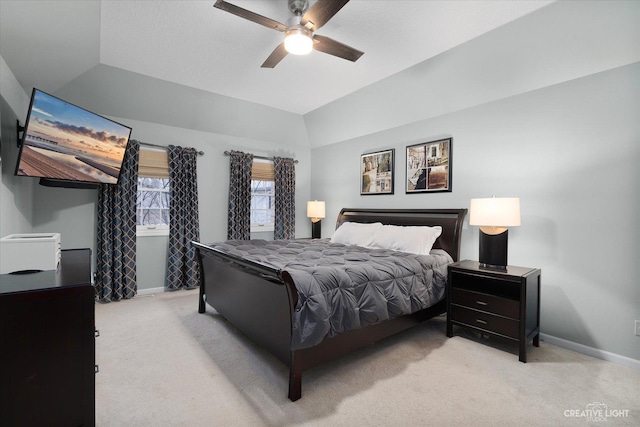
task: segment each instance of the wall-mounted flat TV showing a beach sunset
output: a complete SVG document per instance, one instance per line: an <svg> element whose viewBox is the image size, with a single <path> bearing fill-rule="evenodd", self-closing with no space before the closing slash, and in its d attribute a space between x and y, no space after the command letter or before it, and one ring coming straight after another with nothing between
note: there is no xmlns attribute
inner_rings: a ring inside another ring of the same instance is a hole
<svg viewBox="0 0 640 427"><path fill-rule="evenodd" d="M116 184L131 128L33 90L16 175Z"/></svg>

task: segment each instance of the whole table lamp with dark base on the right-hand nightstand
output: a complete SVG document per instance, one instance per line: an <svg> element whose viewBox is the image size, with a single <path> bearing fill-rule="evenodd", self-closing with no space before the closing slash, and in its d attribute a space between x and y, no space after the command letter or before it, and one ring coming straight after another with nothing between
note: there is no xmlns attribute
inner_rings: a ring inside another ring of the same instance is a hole
<svg viewBox="0 0 640 427"><path fill-rule="evenodd" d="M520 225L520 199L471 199L469 211L469 225L480 226L480 267L505 271L508 227Z"/></svg>

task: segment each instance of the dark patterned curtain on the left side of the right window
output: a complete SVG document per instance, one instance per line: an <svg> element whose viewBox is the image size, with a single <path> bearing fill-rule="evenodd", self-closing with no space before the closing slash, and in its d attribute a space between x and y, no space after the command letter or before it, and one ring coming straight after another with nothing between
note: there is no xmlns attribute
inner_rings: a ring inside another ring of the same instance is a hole
<svg viewBox="0 0 640 427"><path fill-rule="evenodd" d="M251 166L253 154L232 151L229 176L227 239L251 238Z"/></svg>

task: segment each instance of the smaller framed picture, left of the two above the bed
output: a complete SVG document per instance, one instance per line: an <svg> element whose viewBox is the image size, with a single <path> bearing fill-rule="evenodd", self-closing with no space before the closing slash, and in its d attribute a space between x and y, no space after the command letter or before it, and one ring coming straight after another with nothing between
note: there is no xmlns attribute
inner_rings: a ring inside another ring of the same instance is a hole
<svg viewBox="0 0 640 427"><path fill-rule="evenodd" d="M360 195L393 194L395 149L360 156Z"/></svg>

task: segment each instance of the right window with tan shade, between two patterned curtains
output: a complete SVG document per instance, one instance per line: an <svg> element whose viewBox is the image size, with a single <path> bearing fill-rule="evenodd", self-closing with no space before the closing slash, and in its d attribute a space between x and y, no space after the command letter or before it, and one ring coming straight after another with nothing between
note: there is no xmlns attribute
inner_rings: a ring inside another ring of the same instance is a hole
<svg viewBox="0 0 640 427"><path fill-rule="evenodd" d="M274 199L273 162L254 159L251 166L251 232L273 231Z"/></svg>

